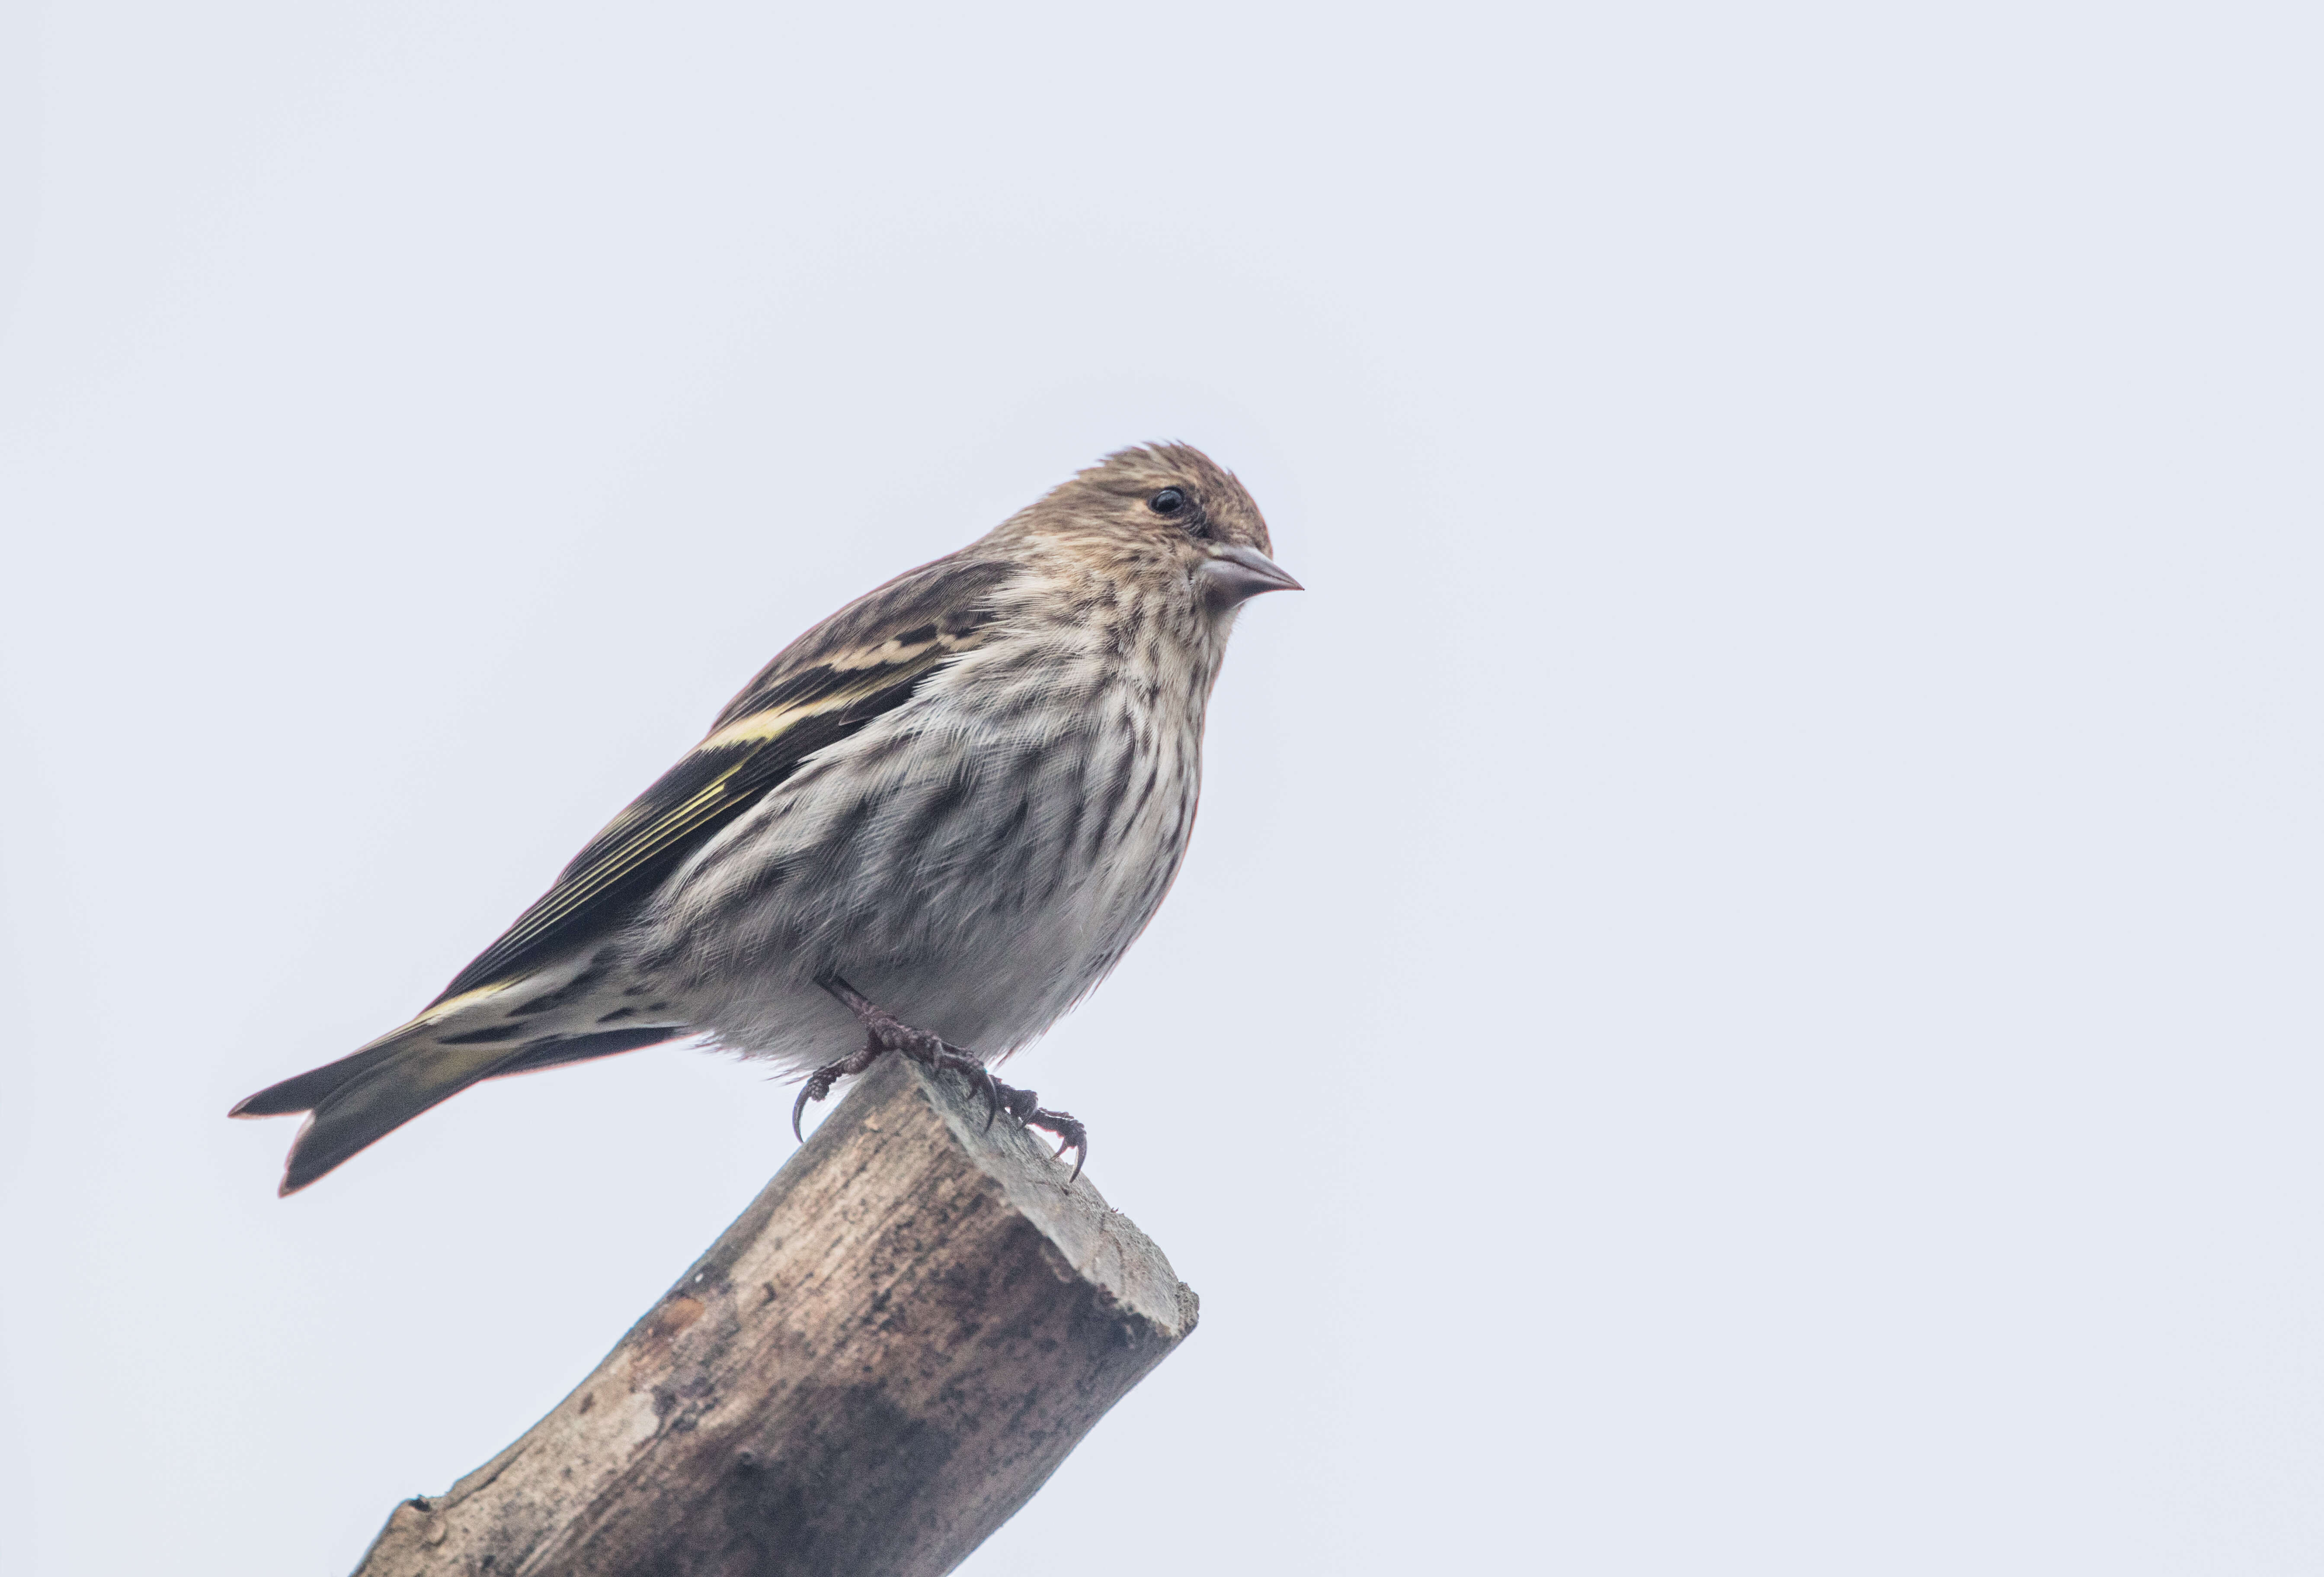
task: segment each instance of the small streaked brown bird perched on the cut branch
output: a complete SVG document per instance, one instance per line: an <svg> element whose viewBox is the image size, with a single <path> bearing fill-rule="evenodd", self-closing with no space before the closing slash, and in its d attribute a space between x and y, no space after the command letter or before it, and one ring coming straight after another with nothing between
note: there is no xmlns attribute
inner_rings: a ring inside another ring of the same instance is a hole
<svg viewBox="0 0 2324 1577"><path fill-rule="evenodd" d="M1088 996L1185 859L1246 602L1301 590L1243 483L1120 448L786 646L676 766L407 1024L270 1085L284 1196L469 1085L669 1040L809 1101L888 1054L992 1064Z"/></svg>

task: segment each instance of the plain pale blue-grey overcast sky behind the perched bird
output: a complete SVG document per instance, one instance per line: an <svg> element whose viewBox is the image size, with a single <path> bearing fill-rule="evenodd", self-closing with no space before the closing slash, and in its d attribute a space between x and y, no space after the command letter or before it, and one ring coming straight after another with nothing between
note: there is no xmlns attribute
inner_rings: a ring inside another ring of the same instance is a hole
<svg viewBox="0 0 2324 1577"><path fill-rule="evenodd" d="M967 1572L2324 1563L2294 5L0 9L0 1526L339 1572L790 1152L295 1201L748 674L1176 437L1192 859L1016 1064L1204 1298Z"/></svg>

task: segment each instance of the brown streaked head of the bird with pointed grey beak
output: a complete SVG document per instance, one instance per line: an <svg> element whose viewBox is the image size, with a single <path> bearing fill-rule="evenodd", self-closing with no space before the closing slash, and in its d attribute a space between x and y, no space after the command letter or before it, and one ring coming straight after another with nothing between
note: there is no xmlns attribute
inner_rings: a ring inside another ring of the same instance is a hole
<svg viewBox="0 0 2324 1577"><path fill-rule="evenodd" d="M1185 444L1116 451L1002 530L1011 527L1104 574L1183 578L1215 611L1301 590L1269 557L1267 518L1243 483Z"/></svg>

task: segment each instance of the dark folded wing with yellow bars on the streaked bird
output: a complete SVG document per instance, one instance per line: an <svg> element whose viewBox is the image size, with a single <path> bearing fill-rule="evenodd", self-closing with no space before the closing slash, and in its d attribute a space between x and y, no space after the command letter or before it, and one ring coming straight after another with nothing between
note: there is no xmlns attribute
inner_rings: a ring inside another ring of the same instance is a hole
<svg viewBox="0 0 2324 1577"><path fill-rule="evenodd" d="M799 764L895 711L978 646L1009 564L941 557L860 597L792 641L709 736L590 838L539 901L462 968L453 996L523 975L623 924L693 850Z"/></svg>

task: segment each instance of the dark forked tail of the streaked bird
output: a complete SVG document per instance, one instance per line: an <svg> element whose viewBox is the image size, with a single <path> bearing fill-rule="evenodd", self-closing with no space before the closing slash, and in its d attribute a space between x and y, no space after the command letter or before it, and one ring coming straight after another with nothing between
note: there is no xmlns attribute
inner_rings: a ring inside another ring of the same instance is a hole
<svg viewBox="0 0 2324 1577"><path fill-rule="evenodd" d="M360 1052L267 1085L237 1103L228 1117L309 1112L297 1138L290 1140L290 1159L284 1164L281 1194L297 1194L365 1145L386 1138L469 1085L507 1073L632 1052L686 1034L669 1027L597 1034L551 1031L476 1045L474 1036L446 1034L456 1022L414 1020Z"/></svg>

